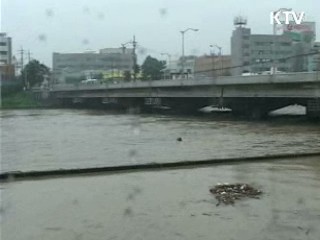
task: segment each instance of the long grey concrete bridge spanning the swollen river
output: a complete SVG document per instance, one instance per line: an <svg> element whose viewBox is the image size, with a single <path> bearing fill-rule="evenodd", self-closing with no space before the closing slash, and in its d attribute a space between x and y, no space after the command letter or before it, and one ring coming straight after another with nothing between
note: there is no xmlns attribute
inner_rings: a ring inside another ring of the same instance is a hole
<svg viewBox="0 0 320 240"><path fill-rule="evenodd" d="M307 107L311 117L320 116L320 73L225 76L193 79L119 82L110 84L58 84L49 94L60 104L167 107L192 112L208 105L232 109L234 114L261 118L269 111L290 105Z"/></svg>

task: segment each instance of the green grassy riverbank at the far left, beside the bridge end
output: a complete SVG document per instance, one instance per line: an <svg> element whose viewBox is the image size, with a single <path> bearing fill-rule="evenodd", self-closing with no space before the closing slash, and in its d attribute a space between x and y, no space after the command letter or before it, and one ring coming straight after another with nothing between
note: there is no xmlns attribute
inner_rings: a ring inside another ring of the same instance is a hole
<svg viewBox="0 0 320 240"><path fill-rule="evenodd" d="M1 109L41 108L43 105L36 101L31 92L18 92L1 98Z"/></svg>

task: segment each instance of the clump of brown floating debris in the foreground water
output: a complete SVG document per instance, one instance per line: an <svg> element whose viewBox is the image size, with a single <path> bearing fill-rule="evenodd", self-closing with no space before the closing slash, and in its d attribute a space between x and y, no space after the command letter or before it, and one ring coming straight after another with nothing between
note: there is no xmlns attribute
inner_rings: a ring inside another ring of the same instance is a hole
<svg viewBox="0 0 320 240"><path fill-rule="evenodd" d="M210 189L210 192L215 195L218 200L217 206L220 203L225 205L234 204L235 200L240 200L243 198L256 198L259 199L259 195L262 191L255 189L249 184L236 183L236 184L218 184Z"/></svg>

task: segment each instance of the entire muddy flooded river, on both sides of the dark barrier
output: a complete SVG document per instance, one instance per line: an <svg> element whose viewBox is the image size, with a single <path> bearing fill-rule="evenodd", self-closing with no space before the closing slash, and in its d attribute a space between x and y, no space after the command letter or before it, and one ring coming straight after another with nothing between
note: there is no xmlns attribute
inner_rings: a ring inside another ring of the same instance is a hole
<svg viewBox="0 0 320 240"><path fill-rule="evenodd" d="M319 125L291 118L249 122L86 110L8 110L1 112L1 130L2 171L320 149ZM263 194L261 199L234 206L216 206L209 189L217 183L248 183ZM1 182L1 239L318 240L319 187L319 156Z"/></svg>

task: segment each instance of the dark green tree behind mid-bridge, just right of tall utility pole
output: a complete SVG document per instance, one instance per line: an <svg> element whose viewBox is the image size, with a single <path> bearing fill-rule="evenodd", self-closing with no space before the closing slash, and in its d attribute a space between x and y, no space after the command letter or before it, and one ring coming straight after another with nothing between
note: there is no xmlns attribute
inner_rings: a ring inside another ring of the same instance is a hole
<svg viewBox="0 0 320 240"><path fill-rule="evenodd" d="M161 79L161 70L165 69L165 61L159 61L156 58L148 56L141 66L142 76L144 80L159 80Z"/></svg>

